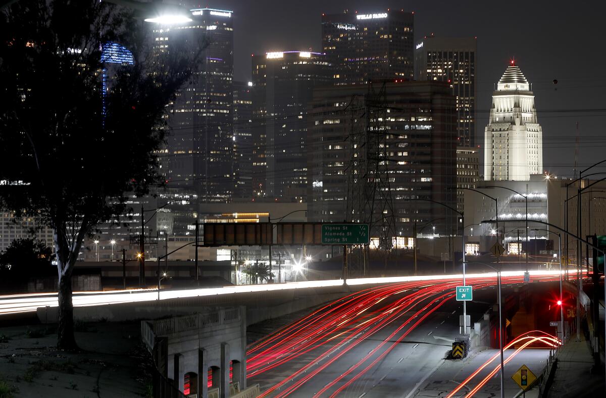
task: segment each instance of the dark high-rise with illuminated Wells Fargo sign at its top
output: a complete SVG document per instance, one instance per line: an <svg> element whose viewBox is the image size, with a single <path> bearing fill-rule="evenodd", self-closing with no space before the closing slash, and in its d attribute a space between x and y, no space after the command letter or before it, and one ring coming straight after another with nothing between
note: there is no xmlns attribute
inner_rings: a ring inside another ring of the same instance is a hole
<svg viewBox="0 0 606 398"><path fill-rule="evenodd" d="M412 79L414 13L404 10L322 14L322 51L335 85Z"/></svg>

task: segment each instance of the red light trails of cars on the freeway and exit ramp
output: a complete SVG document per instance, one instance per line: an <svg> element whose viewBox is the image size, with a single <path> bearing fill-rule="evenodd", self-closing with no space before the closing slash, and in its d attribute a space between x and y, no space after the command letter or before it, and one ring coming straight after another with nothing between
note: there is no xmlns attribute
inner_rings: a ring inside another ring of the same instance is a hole
<svg viewBox="0 0 606 398"><path fill-rule="evenodd" d="M538 277L538 279L551 280L554 277L544 276ZM522 282L522 277L505 276L502 282L504 284L519 283ZM477 289L496 284L494 278L473 278L471 283ZM453 279L410 281L351 293L249 345L247 377L259 376L294 359L303 359L303 364L296 365L296 371L272 385L261 395L262 397L289 396L330 365L342 359L345 354L365 339L393 322L401 322L395 331L386 338L381 338L373 350L359 358L357 362L352 363L347 371L339 374L315 394L315 396L327 396L326 394L330 394L330 397L337 396L384 359L393 348L397 347L411 331L415 330L441 305L453 299L454 287L457 284L460 284L459 281ZM384 300L385 302L383 302ZM523 347L536 341L552 344L553 342L550 343L549 338L548 335L536 338L521 336L508 344L506 348L524 339L529 341L524 342ZM511 354L508 360L513 358L519 350L521 348ZM482 365L464 383L473 379L490 364L491 360ZM484 383L480 383L478 389ZM453 393L460 390L462 385Z"/></svg>

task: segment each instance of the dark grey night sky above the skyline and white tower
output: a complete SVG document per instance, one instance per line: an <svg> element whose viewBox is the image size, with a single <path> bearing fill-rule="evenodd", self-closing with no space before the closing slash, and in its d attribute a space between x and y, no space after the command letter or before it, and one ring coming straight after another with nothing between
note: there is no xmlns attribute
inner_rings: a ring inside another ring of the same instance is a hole
<svg viewBox="0 0 606 398"><path fill-rule="evenodd" d="M544 169L572 174L576 122L579 166L606 159L606 111L587 110L606 108L605 1L222 0L201 5L235 12L236 80L250 80L251 53L321 50L323 12L415 11L415 43L432 32L478 38L476 143L484 146L493 85L515 57L533 84Z"/></svg>

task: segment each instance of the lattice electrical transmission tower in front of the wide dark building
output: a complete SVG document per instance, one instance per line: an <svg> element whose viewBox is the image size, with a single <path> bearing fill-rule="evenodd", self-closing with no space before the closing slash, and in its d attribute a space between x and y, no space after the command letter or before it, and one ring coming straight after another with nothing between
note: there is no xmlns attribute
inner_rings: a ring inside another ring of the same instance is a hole
<svg viewBox="0 0 606 398"><path fill-rule="evenodd" d="M367 93L352 97L347 108L351 116L346 221L368 224L370 237L378 238L378 242L371 241L371 247L351 247L348 267L352 274L368 275L371 248L381 250L387 262L396 237L387 108L385 83L375 90L372 82Z"/></svg>

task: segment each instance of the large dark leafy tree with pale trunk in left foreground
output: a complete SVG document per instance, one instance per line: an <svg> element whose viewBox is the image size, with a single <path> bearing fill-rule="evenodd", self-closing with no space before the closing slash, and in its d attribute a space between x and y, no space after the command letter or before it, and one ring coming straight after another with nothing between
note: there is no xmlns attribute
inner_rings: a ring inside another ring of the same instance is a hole
<svg viewBox="0 0 606 398"><path fill-rule="evenodd" d="M124 214L125 192L163 180L165 107L191 76L179 42L146 52L144 24L98 0L21 0L0 12L0 207L55 230L61 349L77 348L70 277L82 240ZM103 102L108 42L136 57L116 67Z"/></svg>

